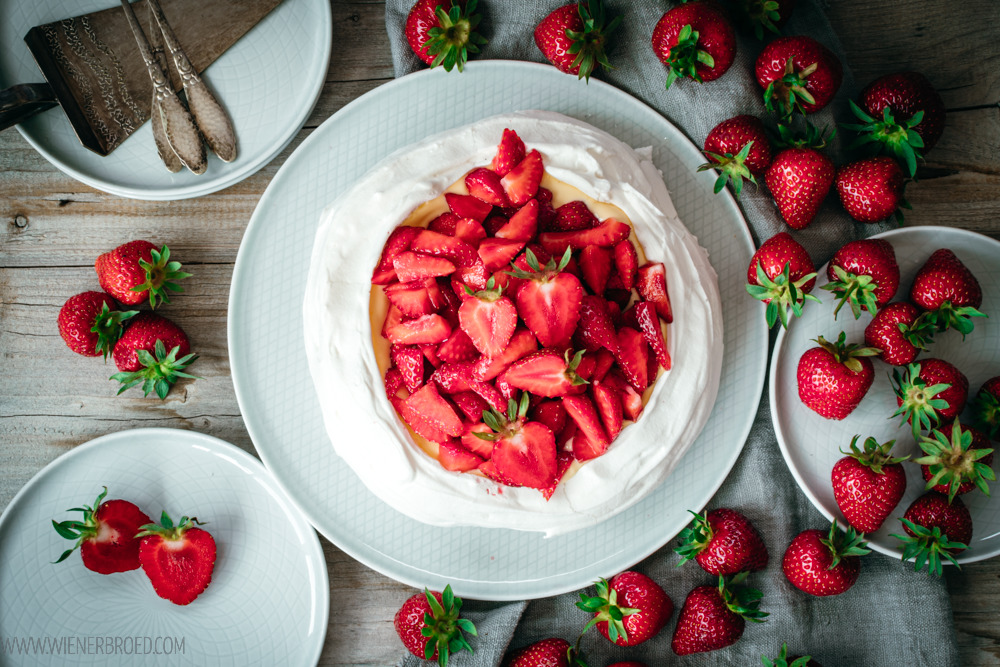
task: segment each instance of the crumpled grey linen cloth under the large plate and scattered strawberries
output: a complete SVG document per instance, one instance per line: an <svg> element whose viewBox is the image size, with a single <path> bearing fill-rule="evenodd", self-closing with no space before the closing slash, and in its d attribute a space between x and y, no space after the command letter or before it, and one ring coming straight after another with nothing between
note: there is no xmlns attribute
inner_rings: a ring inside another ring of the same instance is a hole
<svg viewBox="0 0 1000 667"><path fill-rule="evenodd" d="M413 0L386 2L386 24L397 76L423 67L403 37L403 23L412 4ZM563 4L565 0L482 0L481 33L490 41L475 57L545 62L532 33L542 18ZM609 13L621 14L624 19L614 35L609 56L616 69L597 76L657 109L701 146L709 130L722 120L743 113L765 113L753 75L761 43L751 35L740 34L736 62L720 79L705 85L680 80L666 90L666 70L653 53L650 38L656 22L673 4L662 0L606 0ZM847 121L847 99L855 96L859 87L817 0L799 0L783 33L810 35L838 54L845 66L844 83L837 98L811 119L820 127ZM461 74L455 71L451 76ZM585 84L581 81L580 85ZM773 125L773 118L765 117L765 123ZM845 143L838 133L827 149L836 164L845 161ZM740 204L758 245L788 230L765 190L746 185ZM845 242L886 228L854 222L840 208L836 194L831 193L816 221L792 233L821 265ZM771 426L766 387L763 397L746 447L709 508L737 509L763 534L771 560L765 571L752 575L750 583L764 594L761 608L770 612L767 621L748 623L743 638L728 648L685 658L675 656L670 650L670 638L677 610L691 589L712 583L712 578L694 563L676 568L679 557L672 551L676 546L676 540L672 540L634 568L657 581L673 600L675 612L667 627L654 639L627 649L612 645L592 630L581 645L588 664L601 667L635 659L650 667L759 665L761 655L775 657L782 643L787 642L790 654L808 653L827 667L957 665L951 606L944 584L926 574L914 573L911 566L873 552L863 559L858 583L844 595L832 598L808 596L785 579L781 557L791 539L807 528L826 528L829 524L798 489L785 466ZM587 621L587 615L574 606L577 599L576 593L570 593L530 603L467 603L464 609L480 629L479 638L472 642L476 653L460 654L451 664L499 665L510 650L546 637L575 641ZM399 664L416 667L427 663L408 655Z"/></svg>

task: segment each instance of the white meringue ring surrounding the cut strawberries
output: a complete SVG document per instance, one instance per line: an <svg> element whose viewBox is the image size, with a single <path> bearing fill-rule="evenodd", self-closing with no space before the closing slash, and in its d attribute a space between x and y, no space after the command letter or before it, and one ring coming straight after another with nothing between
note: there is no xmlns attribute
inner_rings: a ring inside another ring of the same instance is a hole
<svg viewBox="0 0 1000 667"><path fill-rule="evenodd" d="M534 489L447 471L424 453L385 396L371 345L371 272L389 233L488 165L505 128L538 149L553 178L629 216L646 256L666 267L674 313L673 368L661 373L639 420L548 501ZM667 478L715 403L722 308L707 253L678 219L650 155L558 113L504 114L393 153L324 210L303 304L306 355L335 451L381 500L428 524L551 536L605 520Z"/></svg>

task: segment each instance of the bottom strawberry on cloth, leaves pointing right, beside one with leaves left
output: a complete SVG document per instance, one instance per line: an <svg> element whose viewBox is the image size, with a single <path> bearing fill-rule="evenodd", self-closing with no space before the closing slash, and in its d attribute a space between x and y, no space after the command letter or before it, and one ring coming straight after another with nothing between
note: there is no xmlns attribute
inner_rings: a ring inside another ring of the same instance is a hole
<svg viewBox="0 0 1000 667"><path fill-rule="evenodd" d="M670 648L677 655L690 655L725 648L739 641L747 621L760 623L767 616L758 609L760 591L740 584L748 573L729 582L719 577L718 586L698 586L684 600Z"/></svg>

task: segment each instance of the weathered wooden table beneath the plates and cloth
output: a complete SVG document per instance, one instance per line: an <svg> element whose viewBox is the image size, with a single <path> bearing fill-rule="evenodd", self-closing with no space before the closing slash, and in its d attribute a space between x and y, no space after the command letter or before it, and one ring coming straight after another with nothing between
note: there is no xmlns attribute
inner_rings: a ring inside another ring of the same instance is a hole
<svg viewBox="0 0 1000 667"><path fill-rule="evenodd" d="M194 429L254 451L226 349L226 305L243 230L291 151L346 103L392 78L384 3L331 1L334 51L306 127L270 165L222 192L180 202L121 199L59 172L17 132L0 133L0 506L49 461L112 431ZM859 81L915 69L947 104L944 137L920 182L907 189L908 224L1000 238L1000 6L995 0L898 0L891 10L864 0L829 4ZM194 341L205 380L182 383L162 402L134 390L116 397L110 373L69 353L56 328L66 298L97 286L93 259L134 238L168 244L197 274L170 315ZM394 663L402 647L392 617L412 589L322 541L336 573L330 594L339 603L321 664ZM946 576L963 664L1000 664L1000 559L948 568Z"/></svg>

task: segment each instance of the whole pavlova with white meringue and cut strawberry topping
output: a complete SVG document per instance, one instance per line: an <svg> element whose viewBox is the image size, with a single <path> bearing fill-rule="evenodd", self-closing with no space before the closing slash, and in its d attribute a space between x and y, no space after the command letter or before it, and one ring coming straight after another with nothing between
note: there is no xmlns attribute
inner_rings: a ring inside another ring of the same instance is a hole
<svg viewBox="0 0 1000 667"><path fill-rule="evenodd" d="M375 495L554 535L664 482L715 402L722 319L650 158L505 114L397 151L325 209L306 352L333 447Z"/></svg>

